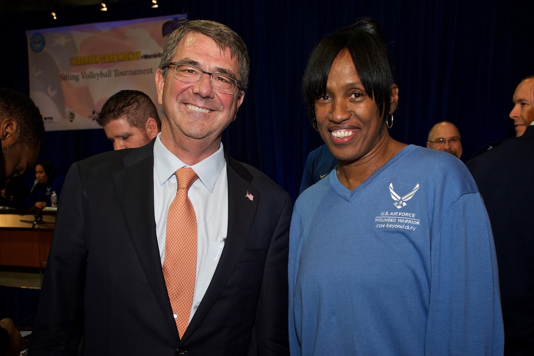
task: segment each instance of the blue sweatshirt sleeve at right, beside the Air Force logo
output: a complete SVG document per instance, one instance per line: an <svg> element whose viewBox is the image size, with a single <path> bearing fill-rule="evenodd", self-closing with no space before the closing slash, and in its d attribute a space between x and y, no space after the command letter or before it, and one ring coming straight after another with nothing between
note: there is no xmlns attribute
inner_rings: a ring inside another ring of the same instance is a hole
<svg viewBox="0 0 534 356"><path fill-rule="evenodd" d="M479 194L461 196L431 237L426 354L502 355L497 258Z"/></svg>

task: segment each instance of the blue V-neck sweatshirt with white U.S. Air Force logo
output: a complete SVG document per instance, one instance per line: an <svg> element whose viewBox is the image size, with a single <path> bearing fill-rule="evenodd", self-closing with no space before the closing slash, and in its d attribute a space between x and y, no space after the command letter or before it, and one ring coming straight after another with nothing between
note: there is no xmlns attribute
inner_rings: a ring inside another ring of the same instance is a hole
<svg viewBox="0 0 534 356"><path fill-rule="evenodd" d="M297 199L292 355L502 355L488 215L467 168L407 146L350 191L335 170Z"/></svg>

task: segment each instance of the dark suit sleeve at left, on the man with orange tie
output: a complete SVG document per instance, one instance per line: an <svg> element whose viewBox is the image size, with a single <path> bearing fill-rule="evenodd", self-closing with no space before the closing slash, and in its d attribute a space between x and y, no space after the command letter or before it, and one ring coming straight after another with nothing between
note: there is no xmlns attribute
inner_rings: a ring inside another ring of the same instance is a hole
<svg viewBox="0 0 534 356"><path fill-rule="evenodd" d="M66 177L35 323L34 355L76 355L83 332L83 295L87 250L83 188L78 165Z"/></svg>

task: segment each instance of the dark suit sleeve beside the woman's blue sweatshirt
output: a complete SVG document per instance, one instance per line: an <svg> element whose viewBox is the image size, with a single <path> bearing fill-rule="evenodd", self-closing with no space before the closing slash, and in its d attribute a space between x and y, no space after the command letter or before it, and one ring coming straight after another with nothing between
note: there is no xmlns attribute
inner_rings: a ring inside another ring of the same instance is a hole
<svg viewBox="0 0 534 356"><path fill-rule="evenodd" d="M293 205L285 204L271 238L249 354L289 355L287 332L287 256ZM255 351L252 351L255 350Z"/></svg>

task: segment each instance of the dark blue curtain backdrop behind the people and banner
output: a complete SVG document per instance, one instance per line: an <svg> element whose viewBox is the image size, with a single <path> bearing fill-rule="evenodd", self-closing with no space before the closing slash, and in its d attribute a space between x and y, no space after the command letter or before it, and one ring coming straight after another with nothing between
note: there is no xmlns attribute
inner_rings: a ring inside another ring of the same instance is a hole
<svg viewBox="0 0 534 356"><path fill-rule="evenodd" d="M305 159L322 142L305 114L300 81L315 44L358 17L379 20L395 65L400 102L391 136L425 146L437 121L458 126L467 160L483 144L514 135L512 96L534 73L534 2L466 1L117 1L49 11L2 13L2 87L28 94L25 30L187 12L233 28L252 61L250 86L223 143L295 199ZM128 88L124 88L128 89ZM154 88L155 90L155 88ZM46 134L41 158L62 173L76 160L111 150L101 129ZM431 167L429 167L431 169ZM29 182L33 174L28 175Z"/></svg>

